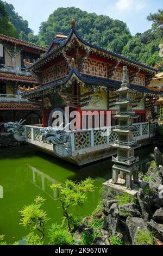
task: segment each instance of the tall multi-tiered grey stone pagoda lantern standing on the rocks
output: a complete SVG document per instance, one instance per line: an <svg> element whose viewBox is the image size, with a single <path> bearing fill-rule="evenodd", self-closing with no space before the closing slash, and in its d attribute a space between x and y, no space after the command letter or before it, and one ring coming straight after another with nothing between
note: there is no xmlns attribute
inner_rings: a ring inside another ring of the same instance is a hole
<svg viewBox="0 0 163 256"><path fill-rule="evenodd" d="M133 135L136 127L133 126L133 119L138 118L132 111L132 107L136 106L138 102L132 99L132 95L136 93L129 88L128 69L123 67L123 80L121 88L116 91L119 95L118 100L114 103L118 106L118 112L114 118L118 119L119 125L112 130L117 133L118 140L111 144L111 147L117 148L117 157L112 157L114 166L112 167L112 184L118 181L118 175L121 179L126 181L126 188L132 190L132 176L136 183L139 183L138 172L139 157L134 156L134 149L139 147Z"/></svg>

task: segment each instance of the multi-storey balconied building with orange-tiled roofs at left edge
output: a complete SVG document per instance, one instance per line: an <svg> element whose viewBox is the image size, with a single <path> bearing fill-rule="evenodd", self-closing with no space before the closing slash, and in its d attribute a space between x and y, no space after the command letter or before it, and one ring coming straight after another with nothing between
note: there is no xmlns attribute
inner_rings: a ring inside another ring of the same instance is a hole
<svg viewBox="0 0 163 256"><path fill-rule="evenodd" d="M27 66L45 51L46 48L42 46L0 34L0 125L21 118L26 119L26 124L41 122L42 104L40 107L40 103L34 104L23 99L18 86L38 86Z"/></svg>

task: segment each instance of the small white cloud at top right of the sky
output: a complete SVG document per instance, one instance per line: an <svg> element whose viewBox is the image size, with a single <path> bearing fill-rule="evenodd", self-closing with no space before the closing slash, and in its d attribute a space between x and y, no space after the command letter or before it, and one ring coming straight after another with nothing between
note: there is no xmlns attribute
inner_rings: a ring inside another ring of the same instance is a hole
<svg viewBox="0 0 163 256"><path fill-rule="evenodd" d="M145 1L139 1L139 0L118 0L115 3L115 7L119 9L120 11L129 11L129 10L141 10L145 7L146 3Z"/></svg>

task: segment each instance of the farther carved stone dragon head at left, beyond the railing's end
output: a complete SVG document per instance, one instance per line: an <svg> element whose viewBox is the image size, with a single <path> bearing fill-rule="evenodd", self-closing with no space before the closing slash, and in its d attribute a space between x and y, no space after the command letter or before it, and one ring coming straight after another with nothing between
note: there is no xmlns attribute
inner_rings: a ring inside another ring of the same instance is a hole
<svg viewBox="0 0 163 256"><path fill-rule="evenodd" d="M4 128L7 130L7 132L11 132L17 141L26 141L25 129L23 126L23 123L25 121L26 120L21 119L19 122L16 123L5 123Z"/></svg>

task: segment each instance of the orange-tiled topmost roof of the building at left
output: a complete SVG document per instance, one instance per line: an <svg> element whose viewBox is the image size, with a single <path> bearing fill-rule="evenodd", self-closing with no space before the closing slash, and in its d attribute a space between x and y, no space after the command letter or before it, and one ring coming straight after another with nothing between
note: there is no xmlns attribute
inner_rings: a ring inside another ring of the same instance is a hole
<svg viewBox="0 0 163 256"><path fill-rule="evenodd" d="M32 42L23 41L23 40L20 40L20 39L17 39L17 38L12 38L11 36L8 36L8 35L0 34L0 41L12 42L12 43L17 44L17 45L22 45L22 46L26 46L26 47L30 47L30 48L35 48L35 49L41 50L43 52L45 52L47 50L46 47L42 47L40 45L33 44Z"/></svg>

